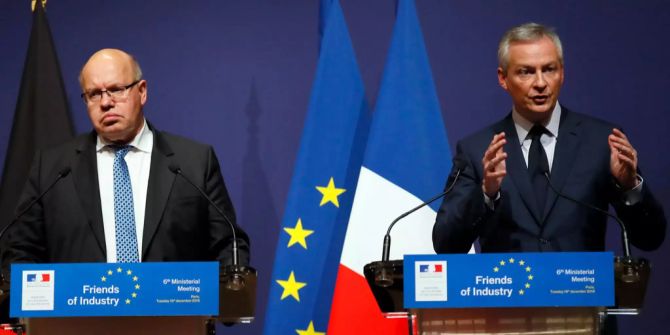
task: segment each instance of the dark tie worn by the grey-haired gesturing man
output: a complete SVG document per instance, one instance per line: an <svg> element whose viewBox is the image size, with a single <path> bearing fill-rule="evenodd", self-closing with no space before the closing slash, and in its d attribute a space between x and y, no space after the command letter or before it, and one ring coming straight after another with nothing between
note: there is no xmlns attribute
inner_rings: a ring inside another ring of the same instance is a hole
<svg viewBox="0 0 670 335"><path fill-rule="evenodd" d="M544 203L547 200L547 179L544 176L544 171L549 172L549 162L547 161L547 154L544 152L540 137L542 134L548 134L546 128L541 125L535 125L528 133L532 139L530 150L528 151L528 175L530 182L535 191L535 200L537 201L538 213L542 215L544 212Z"/></svg>

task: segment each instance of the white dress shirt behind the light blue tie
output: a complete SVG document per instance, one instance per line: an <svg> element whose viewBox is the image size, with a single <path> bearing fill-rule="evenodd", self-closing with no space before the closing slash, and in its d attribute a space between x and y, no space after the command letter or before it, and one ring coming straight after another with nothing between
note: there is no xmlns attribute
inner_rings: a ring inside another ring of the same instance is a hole
<svg viewBox="0 0 670 335"><path fill-rule="evenodd" d="M100 203L102 205L102 221L105 229L105 245L107 262L116 263L116 225L114 224L114 149L100 136L96 143L98 162L98 183L100 186ZM142 235L144 232L144 210L149 186L149 170L151 168L151 151L154 136L146 120L139 134L128 143L132 148L125 160L130 174L130 185L133 190L133 209L135 212L135 232L137 236L138 259L142 261Z"/></svg>

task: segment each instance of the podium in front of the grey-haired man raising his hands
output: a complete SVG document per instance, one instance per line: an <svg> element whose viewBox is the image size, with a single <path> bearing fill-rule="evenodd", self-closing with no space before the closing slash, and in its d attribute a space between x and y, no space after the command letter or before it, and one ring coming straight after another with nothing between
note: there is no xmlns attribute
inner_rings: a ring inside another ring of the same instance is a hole
<svg viewBox="0 0 670 335"><path fill-rule="evenodd" d="M608 315L641 311L648 262L611 253L566 254L406 256L370 263L364 275L384 316L408 318L410 335L602 334ZM528 272L503 269L509 260L518 264L524 259L533 263ZM424 273L427 281L419 282ZM534 276L529 281L520 273ZM507 287L514 290L509 297L502 295ZM476 296L475 290L491 296Z"/></svg>

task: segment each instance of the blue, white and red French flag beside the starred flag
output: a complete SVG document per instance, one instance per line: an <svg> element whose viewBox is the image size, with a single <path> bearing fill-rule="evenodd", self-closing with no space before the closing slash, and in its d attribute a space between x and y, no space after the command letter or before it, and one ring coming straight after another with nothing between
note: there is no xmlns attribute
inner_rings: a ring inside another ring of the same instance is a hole
<svg viewBox="0 0 670 335"><path fill-rule="evenodd" d="M328 335L407 334L407 320L381 314L363 266L380 260L382 240L394 218L443 190L451 157L416 8L412 0L399 0L340 258ZM438 206L439 202L426 206L395 225L391 259L435 253L431 234Z"/></svg>

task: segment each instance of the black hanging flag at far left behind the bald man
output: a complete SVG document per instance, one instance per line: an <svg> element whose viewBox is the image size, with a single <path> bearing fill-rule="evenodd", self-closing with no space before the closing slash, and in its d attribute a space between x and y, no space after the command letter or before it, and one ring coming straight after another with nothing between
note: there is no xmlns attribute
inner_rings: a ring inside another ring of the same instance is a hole
<svg viewBox="0 0 670 335"><path fill-rule="evenodd" d="M35 152L71 139L73 129L51 30L38 0L0 182L0 227L14 217Z"/></svg>

